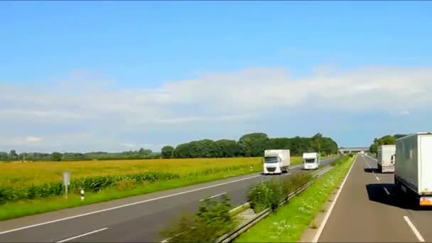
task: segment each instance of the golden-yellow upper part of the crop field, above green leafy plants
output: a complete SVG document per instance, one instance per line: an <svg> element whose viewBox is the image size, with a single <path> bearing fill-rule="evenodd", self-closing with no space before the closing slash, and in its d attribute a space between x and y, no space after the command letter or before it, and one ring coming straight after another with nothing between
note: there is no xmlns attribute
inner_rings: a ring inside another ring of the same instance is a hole
<svg viewBox="0 0 432 243"><path fill-rule="evenodd" d="M301 157L291 157L291 164L301 163ZM72 178L106 175L127 175L163 171L180 176L206 169L249 164L261 166L261 158L171 158L124 161L11 162L0 163L0 185L19 187L40 185L62 180L63 171Z"/></svg>

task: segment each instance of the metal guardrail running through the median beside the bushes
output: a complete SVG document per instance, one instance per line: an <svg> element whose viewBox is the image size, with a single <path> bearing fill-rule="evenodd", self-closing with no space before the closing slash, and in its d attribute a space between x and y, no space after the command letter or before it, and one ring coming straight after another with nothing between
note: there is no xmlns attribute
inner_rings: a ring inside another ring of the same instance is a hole
<svg viewBox="0 0 432 243"><path fill-rule="evenodd" d="M318 178L321 178L323 175L325 175L325 173L328 173L328 171L331 171L333 168L334 167L327 166L327 168L323 168L322 170L318 171L314 175L315 176L314 180L311 180L310 182L308 182L305 185L303 185L301 188L298 188L298 189L294 190L286 198L284 198L284 200L281 200L281 202L279 202L279 205L285 204L288 200L291 200L291 198L295 197L296 195L298 195L299 193L301 193L303 190L306 190L306 188L308 188L310 185L312 185L313 183L315 183L315 181L318 180ZM247 202L247 203L249 203L249 202ZM232 232L228 232L227 234L224 234L221 237L219 237L216 240L216 242L217 243L232 242L233 239L237 238L240 234L242 234L243 232L245 232L247 229L249 229L250 227L252 227L255 224L257 224L257 222L259 222L262 219L264 219L264 217L267 217L267 215L269 215L270 212L271 212L271 208L267 208L266 210L259 212L251 220L248 220L247 222L244 222L242 225L239 225L237 228L233 229Z"/></svg>

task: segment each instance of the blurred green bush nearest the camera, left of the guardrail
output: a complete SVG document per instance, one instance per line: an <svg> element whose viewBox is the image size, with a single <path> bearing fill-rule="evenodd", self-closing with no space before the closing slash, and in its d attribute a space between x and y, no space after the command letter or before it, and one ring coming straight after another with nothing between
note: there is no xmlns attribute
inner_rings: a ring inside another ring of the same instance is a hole
<svg viewBox="0 0 432 243"><path fill-rule="evenodd" d="M215 242L222 234L234 228L228 201L227 195L222 195L220 202L203 200L195 215L181 217L178 224L163 229L161 234L170 238L169 242Z"/></svg>

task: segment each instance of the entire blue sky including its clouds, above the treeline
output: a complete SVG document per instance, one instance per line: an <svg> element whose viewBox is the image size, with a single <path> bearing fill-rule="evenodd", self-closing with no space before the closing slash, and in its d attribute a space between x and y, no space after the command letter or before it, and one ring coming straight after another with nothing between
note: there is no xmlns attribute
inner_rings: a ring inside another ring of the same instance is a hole
<svg viewBox="0 0 432 243"><path fill-rule="evenodd" d="M428 1L0 2L0 150L430 130Z"/></svg>

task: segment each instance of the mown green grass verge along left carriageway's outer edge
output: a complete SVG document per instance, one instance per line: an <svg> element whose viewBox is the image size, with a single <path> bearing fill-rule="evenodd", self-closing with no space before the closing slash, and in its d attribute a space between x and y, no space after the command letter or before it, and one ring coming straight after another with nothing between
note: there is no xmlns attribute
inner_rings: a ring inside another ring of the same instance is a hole
<svg viewBox="0 0 432 243"><path fill-rule="evenodd" d="M99 190L97 193L86 192L84 201L81 201L80 195L75 193L70 193L68 199L65 199L63 195L60 195L50 198L11 201L0 205L0 220L36 215L38 213L127 198L134 195L154 193L161 190L180 188L187 185L205 183L212 180L220 180L239 175L247 175L249 173L257 173L260 171L262 171L261 162L258 161L257 163L255 161L253 171L250 171L249 166L246 166L245 168L236 171L220 171L204 175L199 175L199 173L197 173L196 176L186 176L173 180L161 180L154 183L144 182L134 183L134 185L128 185L126 183L126 188L124 188L124 185L118 185L117 187L104 188Z"/></svg>

